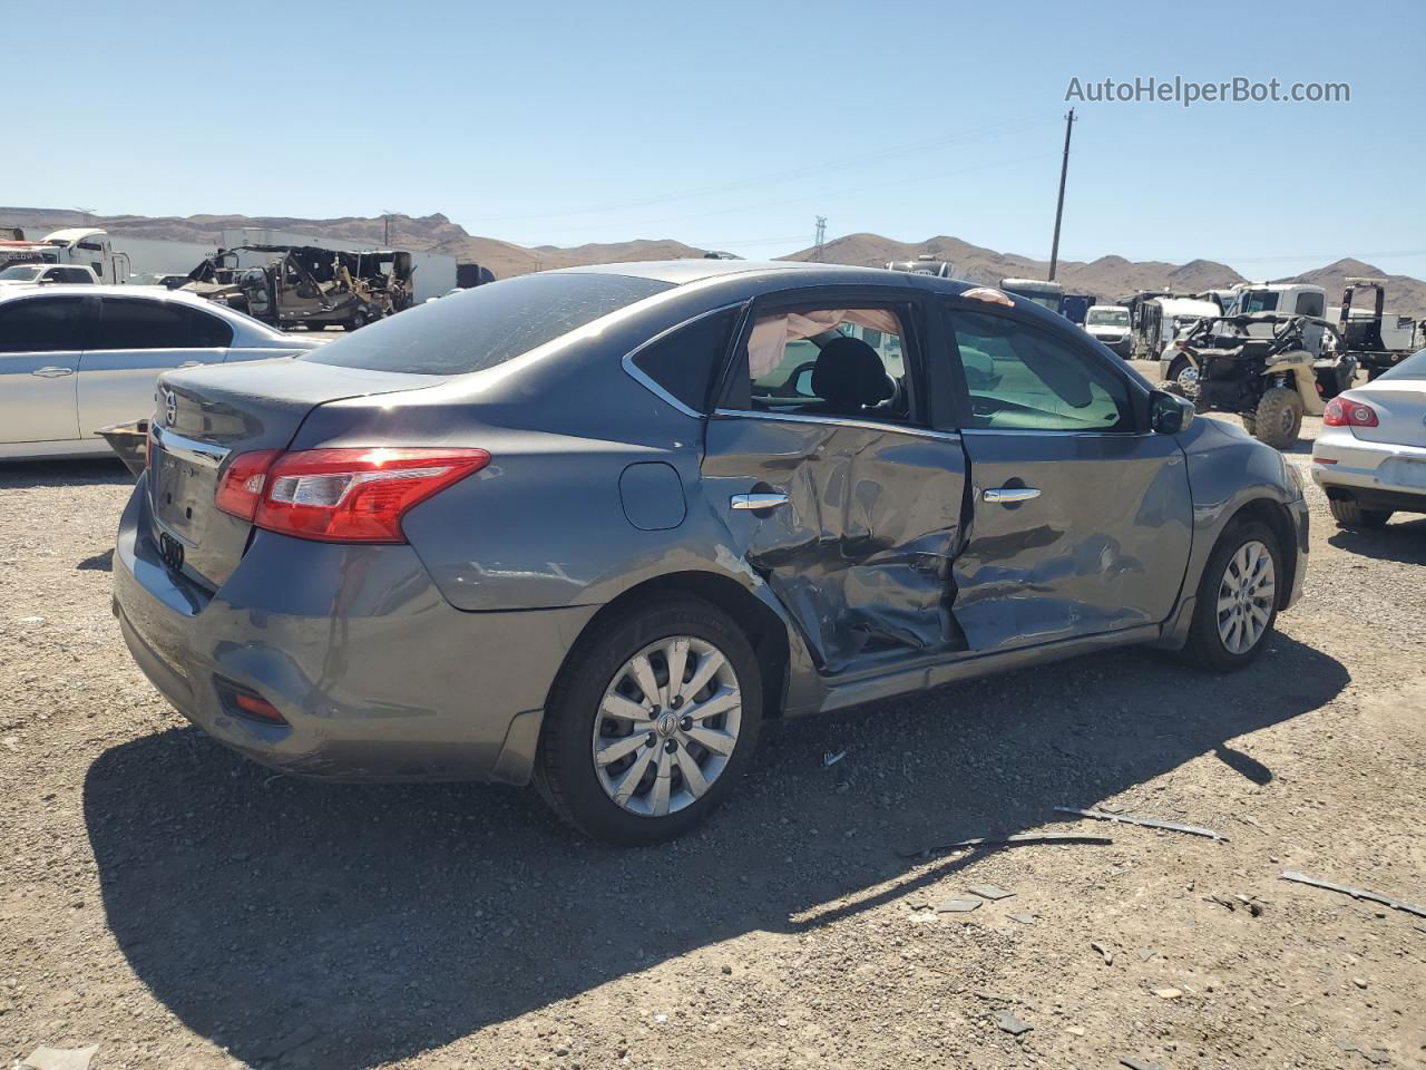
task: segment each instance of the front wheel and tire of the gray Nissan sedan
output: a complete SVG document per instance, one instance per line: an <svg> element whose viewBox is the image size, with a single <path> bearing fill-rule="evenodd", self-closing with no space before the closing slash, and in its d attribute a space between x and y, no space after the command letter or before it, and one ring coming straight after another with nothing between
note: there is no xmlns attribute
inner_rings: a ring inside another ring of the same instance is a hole
<svg viewBox="0 0 1426 1070"><path fill-rule="evenodd" d="M1198 582L1185 653L1212 672L1251 665L1278 619L1278 584L1286 579L1272 528L1233 522L1218 539Z"/></svg>

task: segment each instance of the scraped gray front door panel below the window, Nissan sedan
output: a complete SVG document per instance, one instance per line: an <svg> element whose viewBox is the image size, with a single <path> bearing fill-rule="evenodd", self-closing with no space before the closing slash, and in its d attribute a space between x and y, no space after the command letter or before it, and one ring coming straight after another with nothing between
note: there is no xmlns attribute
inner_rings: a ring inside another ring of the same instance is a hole
<svg viewBox="0 0 1426 1070"><path fill-rule="evenodd" d="M973 651L1159 623L1188 566L1194 509L1172 435L967 431L973 506L955 619ZM1032 488L1011 505L992 488Z"/></svg>

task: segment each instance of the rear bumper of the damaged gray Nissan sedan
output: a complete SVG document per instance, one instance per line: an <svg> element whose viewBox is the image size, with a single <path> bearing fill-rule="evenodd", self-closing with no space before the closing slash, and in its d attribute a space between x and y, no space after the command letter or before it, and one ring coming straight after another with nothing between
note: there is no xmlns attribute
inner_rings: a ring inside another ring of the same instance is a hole
<svg viewBox="0 0 1426 1070"><path fill-rule="evenodd" d="M545 698L596 606L471 613L409 546L255 532L210 593L147 535L145 481L120 521L114 613L174 708L262 765L338 780L529 779ZM222 683L287 720L235 713Z"/></svg>

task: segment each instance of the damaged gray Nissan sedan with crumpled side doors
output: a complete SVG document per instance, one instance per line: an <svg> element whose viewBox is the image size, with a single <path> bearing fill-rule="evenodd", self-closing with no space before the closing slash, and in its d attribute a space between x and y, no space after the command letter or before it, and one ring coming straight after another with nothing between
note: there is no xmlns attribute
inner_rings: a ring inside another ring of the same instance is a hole
<svg viewBox="0 0 1426 1070"><path fill-rule="evenodd" d="M1275 449L1031 301L693 260L168 372L114 606L258 762L533 780L649 843L769 718L1124 643L1243 666L1306 551Z"/></svg>

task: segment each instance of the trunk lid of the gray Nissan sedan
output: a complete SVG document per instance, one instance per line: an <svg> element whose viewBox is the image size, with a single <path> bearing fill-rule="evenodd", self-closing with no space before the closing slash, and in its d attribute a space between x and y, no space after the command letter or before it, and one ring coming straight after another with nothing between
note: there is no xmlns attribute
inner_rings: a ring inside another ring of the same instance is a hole
<svg viewBox="0 0 1426 1070"><path fill-rule="evenodd" d="M277 360L173 371L158 379L148 465L151 535L170 568L217 589L242 559L252 525L214 504L228 461L282 449L317 407L422 389L439 375Z"/></svg>

